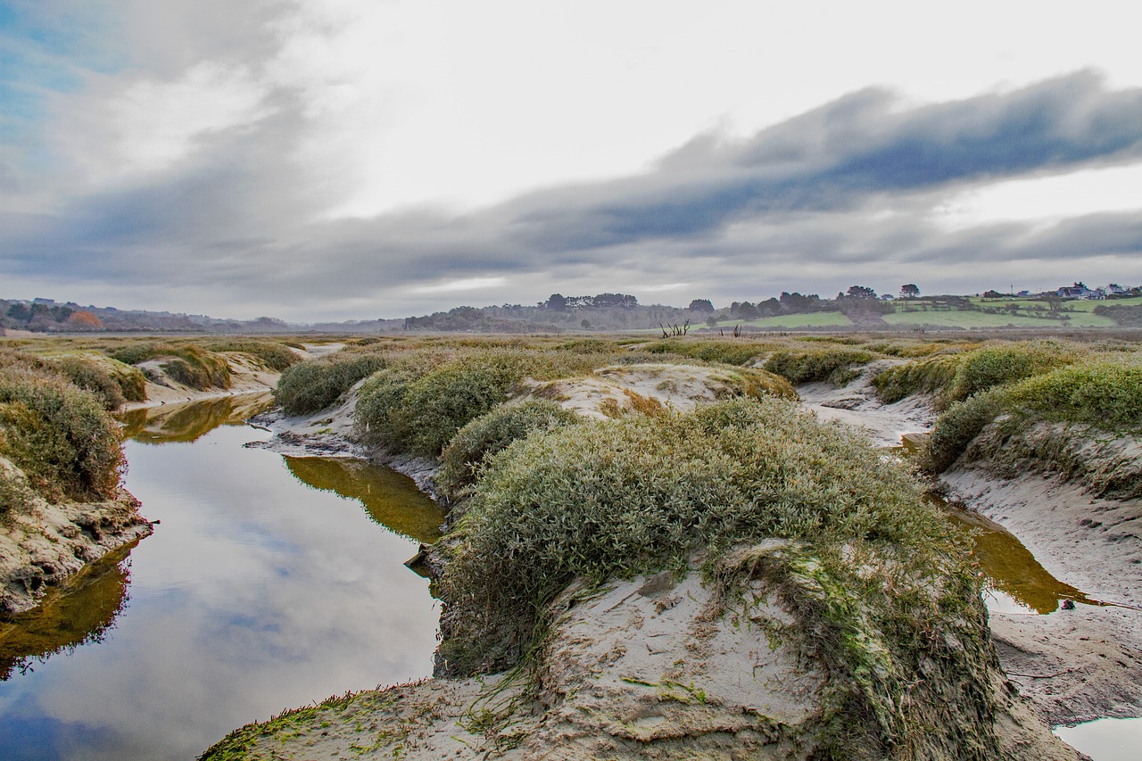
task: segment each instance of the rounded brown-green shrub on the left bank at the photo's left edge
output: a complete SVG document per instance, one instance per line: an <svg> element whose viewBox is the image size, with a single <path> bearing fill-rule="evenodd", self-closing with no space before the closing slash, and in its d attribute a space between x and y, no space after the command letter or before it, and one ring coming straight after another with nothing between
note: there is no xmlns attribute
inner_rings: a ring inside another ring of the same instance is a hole
<svg viewBox="0 0 1142 761"><path fill-rule="evenodd" d="M95 395L18 368L0 369L0 455L53 500L112 498L123 467L119 426Z"/></svg>

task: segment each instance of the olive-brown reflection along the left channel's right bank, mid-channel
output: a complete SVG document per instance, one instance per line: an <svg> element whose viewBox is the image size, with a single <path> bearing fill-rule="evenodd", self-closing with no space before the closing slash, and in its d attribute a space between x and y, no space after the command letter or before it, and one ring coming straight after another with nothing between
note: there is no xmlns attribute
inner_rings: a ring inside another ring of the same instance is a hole
<svg viewBox="0 0 1142 761"><path fill-rule="evenodd" d="M332 457L287 457L286 465L303 483L361 500L369 516L385 528L425 544L441 537L444 511L407 475Z"/></svg>

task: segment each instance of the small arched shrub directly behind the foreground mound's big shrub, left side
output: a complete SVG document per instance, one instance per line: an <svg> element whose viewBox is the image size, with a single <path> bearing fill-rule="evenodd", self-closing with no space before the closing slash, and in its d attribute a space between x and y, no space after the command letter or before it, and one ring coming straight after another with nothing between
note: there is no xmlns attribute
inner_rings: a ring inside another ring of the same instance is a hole
<svg viewBox="0 0 1142 761"><path fill-rule="evenodd" d="M445 497L456 499L476 480L484 460L491 455L533 431L549 431L580 419L557 402L542 399L500 404L472 420L452 436L441 455L442 467L436 484Z"/></svg>

